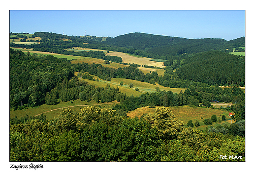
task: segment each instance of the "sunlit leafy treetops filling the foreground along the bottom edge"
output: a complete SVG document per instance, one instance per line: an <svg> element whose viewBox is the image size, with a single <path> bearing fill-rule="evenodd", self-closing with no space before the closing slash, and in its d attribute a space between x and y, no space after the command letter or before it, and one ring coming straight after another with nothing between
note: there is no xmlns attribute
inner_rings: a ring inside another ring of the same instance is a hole
<svg viewBox="0 0 256 172"><path fill-rule="evenodd" d="M95 106L43 117L10 123L10 161L245 161L245 138L185 128L164 107L140 120Z"/></svg>

